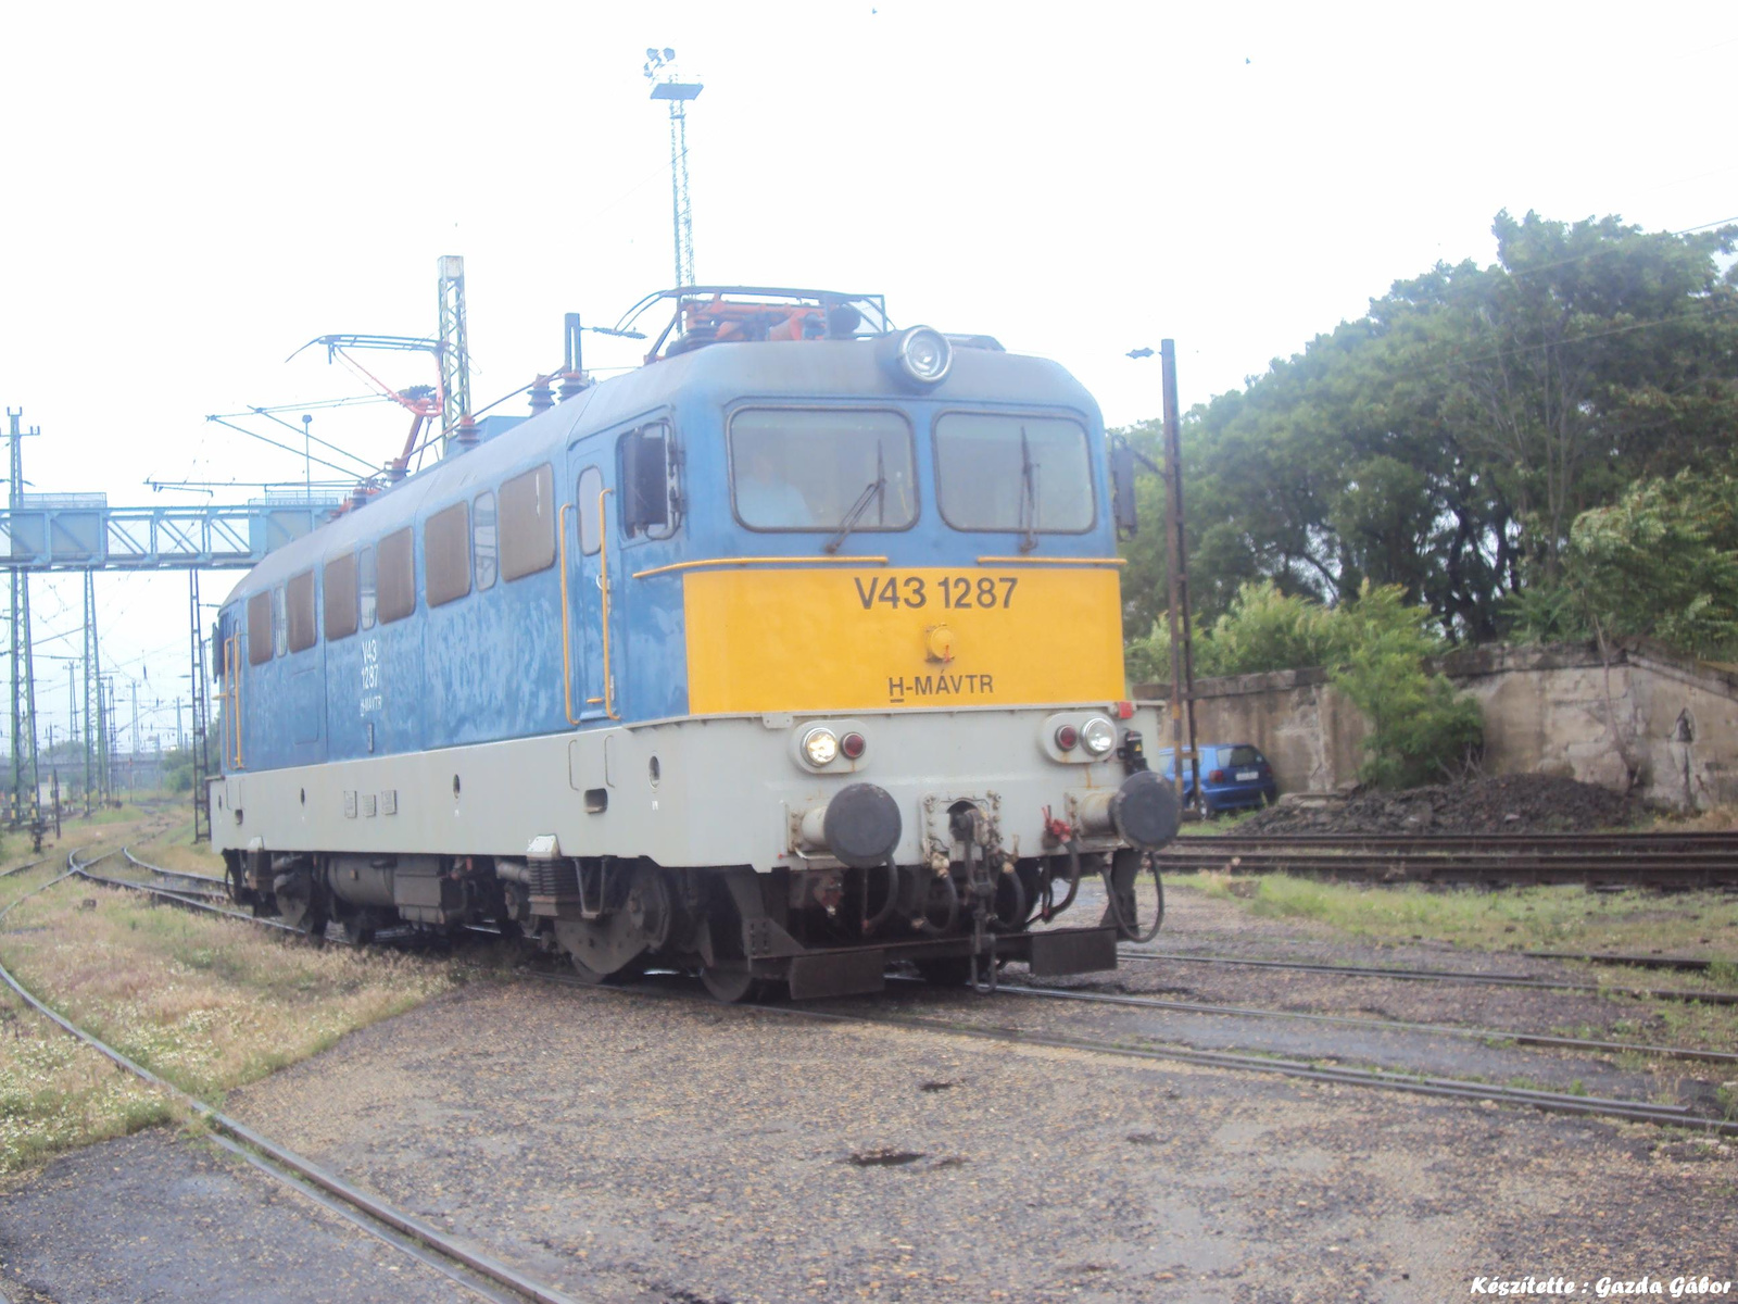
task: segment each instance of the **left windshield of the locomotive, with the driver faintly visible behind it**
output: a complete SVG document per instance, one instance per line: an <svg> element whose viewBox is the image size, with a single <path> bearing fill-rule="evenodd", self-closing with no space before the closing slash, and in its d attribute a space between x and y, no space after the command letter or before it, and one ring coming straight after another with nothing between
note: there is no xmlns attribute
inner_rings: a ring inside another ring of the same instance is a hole
<svg viewBox="0 0 1738 1304"><path fill-rule="evenodd" d="M742 409L730 490L751 530L904 530L918 518L911 426L899 412Z"/></svg>

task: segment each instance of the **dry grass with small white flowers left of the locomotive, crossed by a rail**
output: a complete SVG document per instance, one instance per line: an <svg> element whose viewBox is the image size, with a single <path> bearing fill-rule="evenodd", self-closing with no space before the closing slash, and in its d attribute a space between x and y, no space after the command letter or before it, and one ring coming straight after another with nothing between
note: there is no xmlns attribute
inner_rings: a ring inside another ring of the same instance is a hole
<svg viewBox="0 0 1738 1304"><path fill-rule="evenodd" d="M61 868L54 861L5 880L3 899L50 882ZM0 927L0 956L24 986L210 1104L356 1028L506 965L497 953L426 958L315 948L80 880L23 902ZM170 1116L156 1094L118 1074L40 1017L3 1019L0 1174Z"/></svg>

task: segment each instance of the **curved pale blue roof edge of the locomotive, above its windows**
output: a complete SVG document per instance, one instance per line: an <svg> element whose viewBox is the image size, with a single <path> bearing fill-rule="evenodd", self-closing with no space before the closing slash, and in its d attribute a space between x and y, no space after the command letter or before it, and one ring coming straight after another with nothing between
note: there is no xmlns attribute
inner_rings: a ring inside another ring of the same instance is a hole
<svg viewBox="0 0 1738 1304"><path fill-rule="evenodd" d="M742 398L1060 405L1093 422L1098 419L1098 405L1086 388L1048 358L956 348L947 379L933 389L912 393L876 363L869 341L711 344L600 381L468 452L407 476L362 508L273 551L242 577L224 605L408 525L431 501L445 504L497 485L579 435L676 403L721 405Z"/></svg>

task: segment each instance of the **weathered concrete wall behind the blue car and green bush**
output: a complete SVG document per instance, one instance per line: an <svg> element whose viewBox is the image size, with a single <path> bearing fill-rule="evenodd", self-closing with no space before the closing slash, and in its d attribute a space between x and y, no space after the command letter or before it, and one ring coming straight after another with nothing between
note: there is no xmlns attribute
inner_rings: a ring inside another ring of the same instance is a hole
<svg viewBox="0 0 1738 1304"><path fill-rule="evenodd" d="M1561 774L1658 805L1738 803L1738 673L1648 642L1615 647L1488 647L1437 664L1484 709L1489 774ZM1137 695L1166 699L1170 687ZM1253 742L1283 793L1357 781L1368 727L1326 671L1196 682L1201 742ZM1170 746L1154 739L1149 751Z"/></svg>

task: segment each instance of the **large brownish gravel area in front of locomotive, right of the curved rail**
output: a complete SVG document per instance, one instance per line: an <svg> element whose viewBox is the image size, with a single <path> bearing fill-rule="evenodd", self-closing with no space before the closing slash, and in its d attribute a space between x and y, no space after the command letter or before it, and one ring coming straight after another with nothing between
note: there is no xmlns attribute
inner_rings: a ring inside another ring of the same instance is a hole
<svg viewBox="0 0 1738 1304"><path fill-rule="evenodd" d="M1418 1301L1738 1238L1731 1146L532 981L233 1108L598 1301Z"/></svg>

